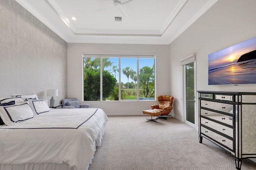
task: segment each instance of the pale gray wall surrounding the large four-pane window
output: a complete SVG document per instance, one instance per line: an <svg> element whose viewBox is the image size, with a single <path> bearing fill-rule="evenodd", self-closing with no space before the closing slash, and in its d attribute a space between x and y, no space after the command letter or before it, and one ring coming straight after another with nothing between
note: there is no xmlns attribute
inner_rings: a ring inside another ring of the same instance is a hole
<svg viewBox="0 0 256 170"><path fill-rule="evenodd" d="M83 96L82 54L137 54L156 55L156 96L170 94L169 45L86 44L68 43L68 98ZM104 109L107 115L143 115L156 101L84 102Z"/></svg>

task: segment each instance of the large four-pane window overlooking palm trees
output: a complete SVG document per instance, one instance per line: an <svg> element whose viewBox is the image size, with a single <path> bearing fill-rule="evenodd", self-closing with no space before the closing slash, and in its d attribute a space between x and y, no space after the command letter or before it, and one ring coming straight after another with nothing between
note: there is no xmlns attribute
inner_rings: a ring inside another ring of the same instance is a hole
<svg viewBox="0 0 256 170"><path fill-rule="evenodd" d="M84 101L155 100L155 55L83 55Z"/></svg>

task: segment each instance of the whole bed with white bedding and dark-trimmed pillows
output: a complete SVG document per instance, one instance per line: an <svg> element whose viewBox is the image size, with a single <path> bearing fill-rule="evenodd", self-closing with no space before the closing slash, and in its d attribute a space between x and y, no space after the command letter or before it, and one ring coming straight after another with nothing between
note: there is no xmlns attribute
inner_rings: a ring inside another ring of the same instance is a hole
<svg viewBox="0 0 256 170"><path fill-rule="evenodd" d="M1 170L88 169L108 121L102 109L49 109L38 99L0 104L12 101L0 106Z"/></svg>

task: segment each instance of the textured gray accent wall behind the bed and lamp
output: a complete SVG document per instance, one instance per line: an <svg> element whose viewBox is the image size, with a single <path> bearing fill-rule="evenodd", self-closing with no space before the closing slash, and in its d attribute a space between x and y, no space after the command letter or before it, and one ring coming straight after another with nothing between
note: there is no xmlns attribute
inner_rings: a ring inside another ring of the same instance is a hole
<svg viewBox="0 0 256 170"><path fill-rule="evenodd" d="M0 98L36 93L67 95L67 43L15 0L0 1Z"/></svg>

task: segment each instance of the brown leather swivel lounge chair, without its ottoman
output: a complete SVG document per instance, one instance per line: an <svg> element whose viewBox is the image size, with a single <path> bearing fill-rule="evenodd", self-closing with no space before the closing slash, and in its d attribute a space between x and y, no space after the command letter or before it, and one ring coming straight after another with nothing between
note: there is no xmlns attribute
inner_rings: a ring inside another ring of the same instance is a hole
<svg viewBox="0 0 256 170"><path fill-rule="evenodd" d="M172 103L173 103L174 97L168 96L168 95L162 95L162 96L157 96L157 100L159 104L152 105L151 109L161 111L161 115L158 116L158 118L156 119L166 119L166 117L163 117L163 116L168 115L173 109Z"/></svg>

